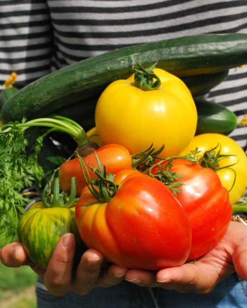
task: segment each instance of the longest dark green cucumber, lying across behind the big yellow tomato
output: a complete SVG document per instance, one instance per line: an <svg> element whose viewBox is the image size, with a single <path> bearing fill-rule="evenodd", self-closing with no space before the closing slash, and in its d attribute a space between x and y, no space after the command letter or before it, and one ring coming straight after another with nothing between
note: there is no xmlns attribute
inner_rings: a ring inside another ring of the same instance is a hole
<svg viewBox="0 0 247 308"><path fill-rule="evenodd" d="M247 34L202 34L124 47L52 72L21 89L4 104L1 122L45 116L100 93L128 77L132 66L158 61L179 76L227 70L247 63Z"/></svg>

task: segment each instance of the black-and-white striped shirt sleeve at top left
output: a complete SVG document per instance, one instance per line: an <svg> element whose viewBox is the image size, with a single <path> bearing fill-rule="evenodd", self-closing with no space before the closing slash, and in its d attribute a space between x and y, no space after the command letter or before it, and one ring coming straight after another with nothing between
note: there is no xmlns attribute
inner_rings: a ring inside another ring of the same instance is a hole
<svg viewBox="0 0 247 308"><path fill-rule="evenodd" d="M50 72L52 29L46 1L0 1L0 90L11 72L21 88Z"/></svg>

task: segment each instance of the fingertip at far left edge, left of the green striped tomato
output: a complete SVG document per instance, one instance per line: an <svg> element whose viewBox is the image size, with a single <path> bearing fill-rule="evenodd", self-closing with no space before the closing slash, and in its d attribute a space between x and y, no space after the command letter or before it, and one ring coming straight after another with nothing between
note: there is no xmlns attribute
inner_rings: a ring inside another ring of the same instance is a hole
<svg viewBox="0 0 247 308"><path fill-rule="evenodd" d="M24 246L20 242L14 241L0 250L0 260L5 266L20 267L26 265L28 256Z"/></svg>

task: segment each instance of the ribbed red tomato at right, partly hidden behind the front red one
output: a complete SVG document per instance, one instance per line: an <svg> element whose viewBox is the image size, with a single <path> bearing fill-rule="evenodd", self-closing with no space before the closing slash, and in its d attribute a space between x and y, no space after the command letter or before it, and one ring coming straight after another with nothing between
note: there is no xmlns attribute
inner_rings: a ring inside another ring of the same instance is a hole
<svg viewBox="0 0 247 308"><path fill-rule="evenodd" d="M229 193L216 172L198 163L174 159L171 171L182 176L177 200L184 207L192 229L192 245L188 260L210 251L224 236L232 216ZM161 165L165 166L166 163ZM157 173L158 167L153 168Z"/></svg>

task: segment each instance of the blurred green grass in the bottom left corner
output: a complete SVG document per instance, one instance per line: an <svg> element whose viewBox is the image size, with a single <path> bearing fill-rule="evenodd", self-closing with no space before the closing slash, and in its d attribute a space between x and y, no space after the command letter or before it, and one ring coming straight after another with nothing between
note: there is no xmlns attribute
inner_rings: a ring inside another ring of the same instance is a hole
<svg viewBox="0 0 247 308"><path fill-rule="evenodd" d="M37 308L36 281L30 267L7 268L0 262L0 308Z"/></svg>

